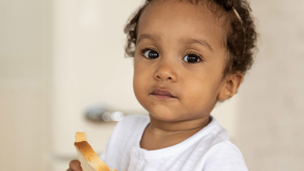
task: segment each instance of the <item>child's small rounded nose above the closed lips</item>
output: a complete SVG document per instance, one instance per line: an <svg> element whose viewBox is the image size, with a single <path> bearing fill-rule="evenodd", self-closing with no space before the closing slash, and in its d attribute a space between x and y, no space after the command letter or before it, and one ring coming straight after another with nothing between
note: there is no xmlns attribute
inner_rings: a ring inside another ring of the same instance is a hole
<svg viewBox="0 0 304 171"><path fill-rule="evenodd" d="M157 65L157 69L154 72L154 79L175 82L177 79L176 68L172 63L162 62Z"/></svg>

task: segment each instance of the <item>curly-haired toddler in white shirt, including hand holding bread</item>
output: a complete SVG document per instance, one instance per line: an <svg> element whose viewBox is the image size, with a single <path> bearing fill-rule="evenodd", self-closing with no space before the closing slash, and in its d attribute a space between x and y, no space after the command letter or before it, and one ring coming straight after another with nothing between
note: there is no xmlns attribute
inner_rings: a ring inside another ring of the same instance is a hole
<svg viewBox="0 0 304 171"><path fill-rule="evenodd" d="M231 98L256 41L245 0L148 0L126 25L133 88L149 117L125 117L101 158L119 171L247 170L210 112ZM79 162L70 169L81 170Z"/></svg>

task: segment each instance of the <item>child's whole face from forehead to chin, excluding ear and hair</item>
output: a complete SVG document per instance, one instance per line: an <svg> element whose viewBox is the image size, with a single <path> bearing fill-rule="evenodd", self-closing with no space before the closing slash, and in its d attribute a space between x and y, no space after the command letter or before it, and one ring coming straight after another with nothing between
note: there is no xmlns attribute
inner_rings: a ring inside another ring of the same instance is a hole
<svg viewBox="0 0 304 171"><path fill-rule="evenodd" d="M135 96L160 120L208 117L225 84L223 23L200 5L156 2L138 21Z"/></svg>

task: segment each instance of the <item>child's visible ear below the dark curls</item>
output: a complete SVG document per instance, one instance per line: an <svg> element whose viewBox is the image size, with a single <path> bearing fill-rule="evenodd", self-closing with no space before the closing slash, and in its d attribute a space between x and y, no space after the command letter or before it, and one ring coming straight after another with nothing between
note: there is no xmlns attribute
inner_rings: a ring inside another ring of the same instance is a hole
<svg viewBox="0 0 304 171"><path fill-rule="evenodd" d="M222 89L220 90L219 94L217 95L217 99L224 101L226 99L230 99L236 92L237 89L240 87L240 84L243 80L243 74L236 73L232 75L227 75Z"/></svg>

